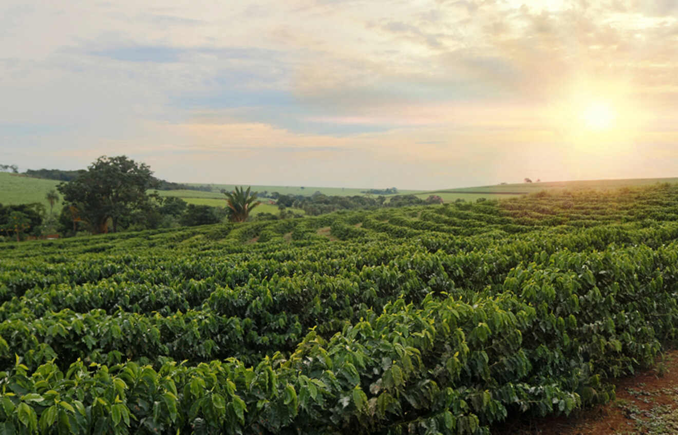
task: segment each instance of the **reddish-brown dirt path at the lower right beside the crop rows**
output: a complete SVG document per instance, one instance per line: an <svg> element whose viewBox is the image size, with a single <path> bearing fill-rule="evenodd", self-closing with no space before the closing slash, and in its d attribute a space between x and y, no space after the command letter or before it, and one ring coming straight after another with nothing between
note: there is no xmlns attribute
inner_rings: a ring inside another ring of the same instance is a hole
<svg viewBox="0 0 678 435"><path fill-rule="evenodd" d="M678 350L652 370L616 382L616 400L570 417L510 421L497 435L678 434Z"/></svg>

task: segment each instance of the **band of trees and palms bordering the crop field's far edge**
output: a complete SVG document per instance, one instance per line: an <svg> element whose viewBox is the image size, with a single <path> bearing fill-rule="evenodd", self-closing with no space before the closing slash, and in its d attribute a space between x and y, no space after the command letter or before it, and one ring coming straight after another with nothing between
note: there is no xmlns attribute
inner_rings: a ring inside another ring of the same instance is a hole
<svg viewBox="0 0 678 435"><path fill-rule="evenodd" d="M188 204L176 196L163 197L157 189L168 186L168 182L155 178L151 167L145 163L136 163L124 155L99 157L87 169L79 171L40 169L31 173L69 180L62 180L56 188L58 192L51 190L45 195L49 215L40 203L0 205L0 230L6 236L16 237L17 241L26 235L40 236L44 230L72 236L79 232L101 234L217 224L226 219L245 222L252 219L250 213L260 205L257 192L252 192L249 187L236 187L230 192L222 190L224 207ZM169 186L186 185L170 183ZM210 186L205 187L211 190ZM155 191L149 193L151 190ZM291 209L302 209L306 215L320 215L338 210L442 203L439 196L422 200L412 194L391 196L388 201L383 195L327 196L319 191L311 196L279 192L269 196L277 199L279 213L260 213L255 220L302 216ZM55 216L54 205L60 201L62 207Z"/></svg>

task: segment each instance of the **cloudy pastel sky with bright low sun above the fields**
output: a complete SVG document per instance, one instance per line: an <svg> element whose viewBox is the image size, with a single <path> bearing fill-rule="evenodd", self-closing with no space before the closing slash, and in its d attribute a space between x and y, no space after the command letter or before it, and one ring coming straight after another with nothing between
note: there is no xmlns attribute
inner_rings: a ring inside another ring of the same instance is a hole
<svg viewBox="0 0 678 435"><path fill-rule="evenodd" d="M0 163L434 189L678 176L678 1L4 0Z"/></svg>

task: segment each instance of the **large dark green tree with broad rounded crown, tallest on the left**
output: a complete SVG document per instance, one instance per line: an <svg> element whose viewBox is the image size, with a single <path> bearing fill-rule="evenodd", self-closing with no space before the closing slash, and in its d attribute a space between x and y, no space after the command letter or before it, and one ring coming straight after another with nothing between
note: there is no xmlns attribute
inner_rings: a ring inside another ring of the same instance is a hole
<svg viewBox="0 0 678 435"><path fill-rule="evenodd" d="M123 216L146 207L151 199L146 190L155 183L153 171L145 163L138 164L126 156L102 156L75 180L61 183L57 189L64 201L77 209L79 219L98 234L108 232L109 221L116 232Z"/></svg>

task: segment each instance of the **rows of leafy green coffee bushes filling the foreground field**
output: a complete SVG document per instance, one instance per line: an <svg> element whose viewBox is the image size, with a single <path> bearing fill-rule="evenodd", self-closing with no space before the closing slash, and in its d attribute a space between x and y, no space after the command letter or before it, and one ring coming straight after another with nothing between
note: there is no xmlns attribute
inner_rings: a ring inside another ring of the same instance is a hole
<svg viewBox="0 0 678 435"><path fill-rule="evenodd" d="M0 245L0 432L488 434L678 332L678 188Z"/></svg>

